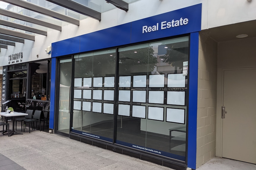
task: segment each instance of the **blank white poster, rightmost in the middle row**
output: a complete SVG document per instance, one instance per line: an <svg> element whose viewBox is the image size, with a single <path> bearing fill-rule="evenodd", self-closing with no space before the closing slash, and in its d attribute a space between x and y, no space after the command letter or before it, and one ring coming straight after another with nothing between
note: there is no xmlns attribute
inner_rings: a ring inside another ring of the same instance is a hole
<svg viewBox="0 0 256 170"><path fill-rule="evenodd" d="M184 91L167 91L167 104L185 105Z"/></svg>

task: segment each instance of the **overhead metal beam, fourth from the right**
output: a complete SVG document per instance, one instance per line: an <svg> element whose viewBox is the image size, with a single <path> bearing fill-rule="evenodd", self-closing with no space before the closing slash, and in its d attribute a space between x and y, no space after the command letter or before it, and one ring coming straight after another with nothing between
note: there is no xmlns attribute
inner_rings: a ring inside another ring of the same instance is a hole
<svg viewBox="0 0 256 170"><path fill-rule="evenodd" d="M61 26L59 26L59 25L51 24L49 22L38 20L36 18L29 17L29 16L22 15L22 14L18 14L16 12L12 12L12 11L9 11L9 10L5 10L5 9L1 9L0 8L0 14L4 15L4 16L7 16L7 17L16 18L18 20L22 20L22 21L26 21L26 22L31 22L33 24L42 25L44 27L48 27L48 28L52 28L54 30L61 31Z"/></svg>

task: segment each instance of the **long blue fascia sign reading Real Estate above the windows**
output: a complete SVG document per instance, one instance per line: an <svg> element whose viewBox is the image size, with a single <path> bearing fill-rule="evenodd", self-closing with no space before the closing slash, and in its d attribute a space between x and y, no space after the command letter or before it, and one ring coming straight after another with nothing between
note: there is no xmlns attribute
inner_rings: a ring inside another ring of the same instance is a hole
<svg viewBox="0 0 256 170"><path fill-rule="evenodd" d="M51 57L111 48L201 30L202 4L52 43Z"/></svg>

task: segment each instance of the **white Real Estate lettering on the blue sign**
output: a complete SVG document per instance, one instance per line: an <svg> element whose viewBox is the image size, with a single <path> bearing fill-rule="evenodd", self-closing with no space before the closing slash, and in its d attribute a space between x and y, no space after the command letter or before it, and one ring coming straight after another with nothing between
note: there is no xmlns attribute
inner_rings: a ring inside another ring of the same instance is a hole
<svg viewBox="0 0 256 170"><path fill-rule="evenodd" d="M182 25L187 25L189 23L189 19L187 18L180 18L179 20L172 20L170 22L167 21L163 21L161 23L156 23L156 25L153 26L148 26L148 25L144 25L142 27L142 33L149 33L151 31L158 31L159 30L159 26L160 26L160 30L164 30L167 28L171 28L171 27L178 27L178 26L182 26Z"/></svg>

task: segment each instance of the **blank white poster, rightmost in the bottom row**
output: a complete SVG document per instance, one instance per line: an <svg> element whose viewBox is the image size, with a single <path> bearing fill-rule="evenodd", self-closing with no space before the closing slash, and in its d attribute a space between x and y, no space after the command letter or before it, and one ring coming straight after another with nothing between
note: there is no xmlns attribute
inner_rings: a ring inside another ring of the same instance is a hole
<svg viewBox="0 0 256 170"><path fill-rule="evenodd" d="M166 122L185 124L185 110L184 109L167 108Z"/></svg>

